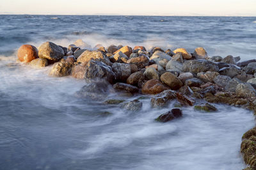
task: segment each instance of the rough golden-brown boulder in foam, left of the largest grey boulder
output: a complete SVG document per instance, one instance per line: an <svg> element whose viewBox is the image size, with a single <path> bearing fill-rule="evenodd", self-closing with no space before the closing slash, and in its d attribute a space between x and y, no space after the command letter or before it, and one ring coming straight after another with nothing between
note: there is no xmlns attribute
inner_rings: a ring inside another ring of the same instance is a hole
<svg viewBox="0 0 256 170"><path fill-rule="evenodd" d="M68 76L71 73L72 64L70 62L56 62L49 73L49 76Z"/></svg>

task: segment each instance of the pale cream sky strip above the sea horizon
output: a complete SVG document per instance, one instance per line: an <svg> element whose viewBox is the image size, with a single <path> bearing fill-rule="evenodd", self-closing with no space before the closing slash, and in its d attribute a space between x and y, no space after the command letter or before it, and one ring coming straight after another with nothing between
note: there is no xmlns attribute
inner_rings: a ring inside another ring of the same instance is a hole
<svg viewBox="0 0 256 170"><path fill-rule="evenodd" d="M256 17L256 0L0 0L0 14Z"/></svg>

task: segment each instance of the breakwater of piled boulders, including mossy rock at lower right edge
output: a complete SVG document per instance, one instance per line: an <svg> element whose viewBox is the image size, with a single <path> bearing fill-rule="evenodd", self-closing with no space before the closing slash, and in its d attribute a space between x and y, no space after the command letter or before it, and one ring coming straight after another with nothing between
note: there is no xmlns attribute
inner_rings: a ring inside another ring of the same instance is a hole
<svg viewBox="0 0 256 170"><path fill-rule="evenodd" d="M63 47L45 42L37 49L33 45L20 46L20 62L42 68L51 66L49 76L72 76L84 79L86 85L76 93L104 104L118 104L128 111L141 110L143 97L125 102L106 99L117 96L151 97L152 108L167 107L176 101L170 111L156 117L157 122L182 118L182 107L214 112L212 103L230 104L256 113L256 59L239 62L240 57L211 56L198 47L193 53L184 48L163 50L144 46L111 45L105 48L87 44L78 39ZM210 104L211 103L211 104ZM256 169L256 130L246 132L241 144L246 169Z"/></svg>

